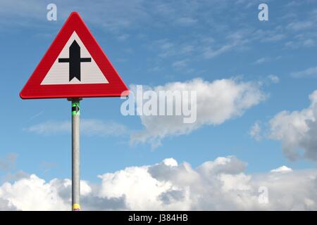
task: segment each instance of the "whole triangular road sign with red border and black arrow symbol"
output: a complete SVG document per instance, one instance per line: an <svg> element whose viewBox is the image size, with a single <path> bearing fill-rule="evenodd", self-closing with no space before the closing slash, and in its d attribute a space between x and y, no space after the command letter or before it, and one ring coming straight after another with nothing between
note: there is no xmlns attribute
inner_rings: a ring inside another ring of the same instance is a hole
<svg viewBox="0 0 317 225"><path fill-rule="evenodd" d="M121 95L128 95L128 87L76 12L70 13L20 92L24 99Z"/></svg>

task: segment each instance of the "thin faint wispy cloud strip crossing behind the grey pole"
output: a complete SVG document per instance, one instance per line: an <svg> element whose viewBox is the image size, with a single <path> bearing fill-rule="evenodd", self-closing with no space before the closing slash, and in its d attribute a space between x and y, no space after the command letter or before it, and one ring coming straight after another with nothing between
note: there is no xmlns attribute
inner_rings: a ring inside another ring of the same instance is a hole
<svg viewBox="0 0 317 225"><path fill-rule="evenodd" d="M128 132L128 129L123 124L93 119L82 119L80 121L80 129L82 134L87 136L118 136ZM24 130L43 135L68 133L71 131L71 122L47 121L32 125Z"/></svg>

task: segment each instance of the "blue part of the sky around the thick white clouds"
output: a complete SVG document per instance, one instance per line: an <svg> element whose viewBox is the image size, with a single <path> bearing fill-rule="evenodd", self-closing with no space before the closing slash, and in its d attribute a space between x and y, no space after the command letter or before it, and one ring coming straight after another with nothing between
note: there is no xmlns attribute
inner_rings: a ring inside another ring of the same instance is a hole
<svg viewBox="0 0 317 225"><path fill-rule="evenodd" d="M80 13L129 86L155 89L198 77L210 84L237 79L237 84L250 82L265 96L218 124L202 122L187 134L168 134L155 149L149 141L131 144L131 135L145 128L142 118L120 114L123 100L85 98L81 119L90 127L81 136L83 180L99 182L98 174L166 158L198 167L235 155L247 162L249 174L282 165L293 170L316 167L313 157L287 156L289 147L302 153L311 148L302 139L287 142L288 134L277 134L270 123L283 110L308 109L309 95L317 89L316 1L266 1L268 21L258 19L262 1L55 1L57 21L46 20L49 3L0 4L0 165L6 165L0 168L0 184L18 171L46 181L71 176L70 102L19 97L71 11ZM250 135L256 122L259 140ZM41 124L44 131L37 129ZM306 129L297 130L306 140ZM16 158L8 160L12 155Z"/></svg>

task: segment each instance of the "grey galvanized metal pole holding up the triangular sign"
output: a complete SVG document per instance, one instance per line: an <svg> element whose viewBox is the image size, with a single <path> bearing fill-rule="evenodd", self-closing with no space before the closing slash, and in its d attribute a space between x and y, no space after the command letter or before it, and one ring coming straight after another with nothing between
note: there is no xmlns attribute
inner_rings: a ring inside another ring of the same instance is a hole
<svg viewBox="0 0 317 225"><path fill-rule="evenodd" d="M72 210L80 211L80 98L72 99Z"/></svg>

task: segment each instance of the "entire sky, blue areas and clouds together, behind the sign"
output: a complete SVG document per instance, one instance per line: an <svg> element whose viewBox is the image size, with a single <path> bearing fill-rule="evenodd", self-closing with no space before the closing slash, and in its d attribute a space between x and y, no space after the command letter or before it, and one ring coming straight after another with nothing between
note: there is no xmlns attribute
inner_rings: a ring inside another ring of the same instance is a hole
<svg viewBox="0 0 317 225"><path fill-rule="evenodd" d="M197 91L192 124L80 102L83 209L317 210L314 0L2 0L0 210L70 210L70 102L19 93L72 11L130 90Z"/></svg>

